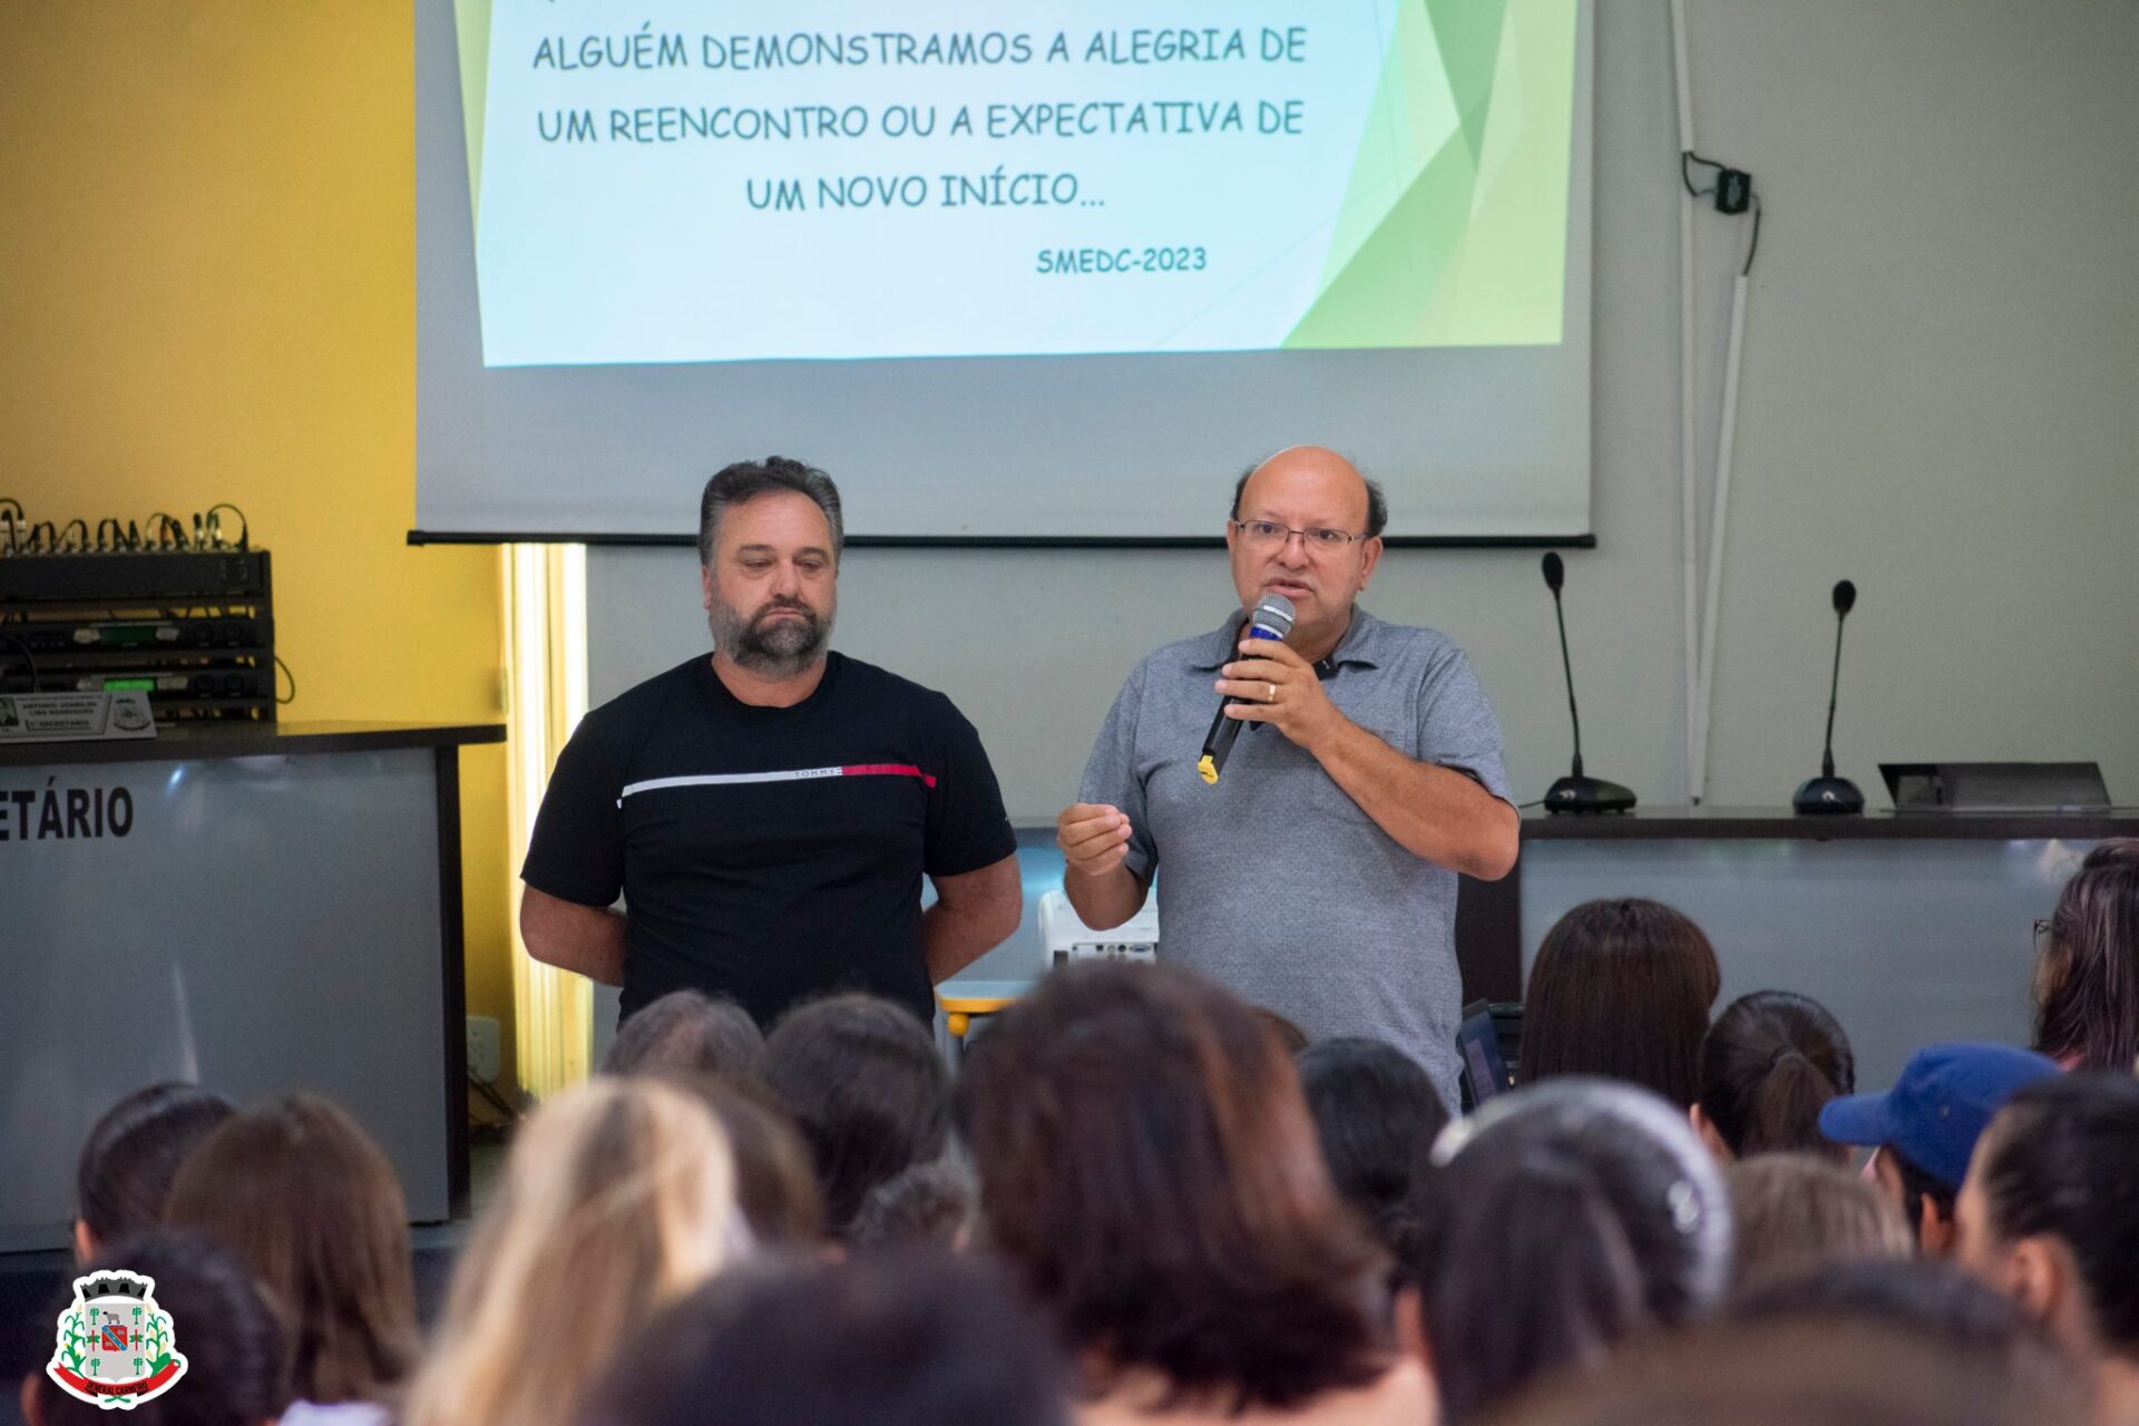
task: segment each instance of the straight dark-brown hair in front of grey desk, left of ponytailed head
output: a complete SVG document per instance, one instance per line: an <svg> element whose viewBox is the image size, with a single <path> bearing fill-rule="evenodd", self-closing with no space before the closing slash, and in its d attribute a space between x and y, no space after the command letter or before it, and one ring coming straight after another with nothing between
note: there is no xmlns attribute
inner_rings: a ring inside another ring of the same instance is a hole
<svg viewBox="0 0 2139 1426"><path fill-rule="evenodd" d="M1583 902L1529 966L1523 1082L1606 1075L1686 1110L1718 990L1715 949L1681 913L1636 896Z"/></svg>

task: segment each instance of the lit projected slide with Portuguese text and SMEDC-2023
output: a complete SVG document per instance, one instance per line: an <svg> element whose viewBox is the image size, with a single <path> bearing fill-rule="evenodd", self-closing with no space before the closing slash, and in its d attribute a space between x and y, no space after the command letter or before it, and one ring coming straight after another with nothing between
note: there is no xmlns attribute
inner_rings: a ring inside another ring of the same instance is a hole
<svg viewBox="0 0 2139 1426"><path fill-rule="evenodd" d="M488 368L1551 346L1574 0L456 0Z"/></svg>

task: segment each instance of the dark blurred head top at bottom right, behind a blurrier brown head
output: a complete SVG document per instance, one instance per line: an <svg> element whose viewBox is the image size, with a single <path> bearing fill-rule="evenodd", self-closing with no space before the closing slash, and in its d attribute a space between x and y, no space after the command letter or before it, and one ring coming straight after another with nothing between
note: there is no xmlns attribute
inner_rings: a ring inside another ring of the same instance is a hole
<svg viewBox="0 0 2139 1426"><path fill-rule="evenodd" d="M2073 1358L2041 1323L1951 1264L1921 1257L1829 1264L1754 1287L1728 1315L1752 1326L1825 1326L1844 1340L1867 1334L1917 1343L1953 1370L2011 1392L2013 1402L2034 1413L2026 1420L2086 1420L2086 1379L2073 1370Z"/></svg>

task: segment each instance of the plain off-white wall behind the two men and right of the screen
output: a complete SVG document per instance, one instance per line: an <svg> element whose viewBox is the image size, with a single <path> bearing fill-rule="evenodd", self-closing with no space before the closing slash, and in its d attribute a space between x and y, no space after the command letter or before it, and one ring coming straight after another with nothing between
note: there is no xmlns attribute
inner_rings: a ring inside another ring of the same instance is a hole
<svg viewBox="0 0 2139 1426"><path fill-rule="evenodd" d="M2098 759L2139 802L2139 4L1688 0L1696 141L1767 203L1745 329L1709 802L1835 759ZM1677 128L1662 0L1598 0L1596 552L1568 554L1589 772L1686 800ZM1743 224L1696 224L1701 468ZM708 451L708 472L738 455ZM794 451L809 455L809 451ZM1211 528L1256 451L1213 451ZM1371 468L1373 451L1360 451ZM834 470L834 475L838 475ZM695 515L676 492L678 528ZM1703 511L1701 528L1707 530ZM595 697L706 646L684 549L590 562ZM1050 819L1129 665L1217 624L1215 552L856 549L838 646L950 693ZM1529 800L1566 770L1536 552L1390 552L1367 596L1478 665Z"/></svg>

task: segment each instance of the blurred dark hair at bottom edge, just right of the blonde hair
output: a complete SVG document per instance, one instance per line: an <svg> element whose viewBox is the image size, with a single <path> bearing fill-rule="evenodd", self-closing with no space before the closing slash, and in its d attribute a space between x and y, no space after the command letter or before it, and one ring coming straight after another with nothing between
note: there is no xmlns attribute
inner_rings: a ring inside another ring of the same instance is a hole
<svg viewBox="0 0 2139 1426"><path fill-rule="evenodd" d="M1046 1330L975 1257L744 1266L648 1321L582 1426L1067 1426Z"/></svg>

